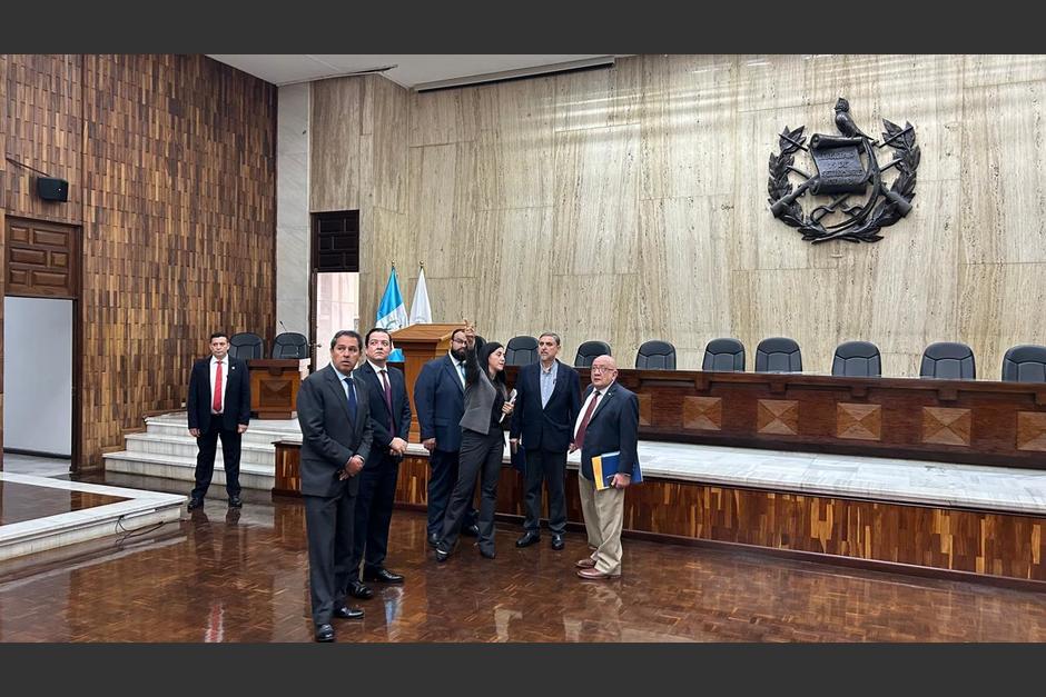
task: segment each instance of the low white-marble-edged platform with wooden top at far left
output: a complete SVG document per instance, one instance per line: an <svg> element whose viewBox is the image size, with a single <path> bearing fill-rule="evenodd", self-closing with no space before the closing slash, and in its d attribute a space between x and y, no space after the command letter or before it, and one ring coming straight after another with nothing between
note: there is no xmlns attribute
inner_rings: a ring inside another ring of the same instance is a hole
<svg viewBox="0 0 1046 697"><path fill-rule="evenodd" d="M186 497L0 471L0 561L178 520Z"/></svg>

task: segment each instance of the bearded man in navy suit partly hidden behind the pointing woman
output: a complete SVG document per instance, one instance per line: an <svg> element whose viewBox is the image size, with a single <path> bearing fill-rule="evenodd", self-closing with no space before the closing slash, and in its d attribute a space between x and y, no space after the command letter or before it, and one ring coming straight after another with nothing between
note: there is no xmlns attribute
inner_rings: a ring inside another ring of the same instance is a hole
<svg viewBox="0 0 1046 697"><path fill-rule="evenodd" d="M462 445L461 419L465 414L465 355L468 341L464 327L451 335L451 350L422 368L414 384L414 407L422 445L428 450L428 544L435 547L443 535L451 491L457 481ZM478 537L477 511L468 507L462 532Z"/></svg>

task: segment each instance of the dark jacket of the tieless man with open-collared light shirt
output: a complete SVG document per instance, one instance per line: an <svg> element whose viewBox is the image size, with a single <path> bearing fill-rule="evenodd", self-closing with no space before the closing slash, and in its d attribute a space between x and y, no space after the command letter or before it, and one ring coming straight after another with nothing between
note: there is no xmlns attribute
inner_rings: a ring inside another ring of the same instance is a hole
<svg viewBox="0 0 1046 697"><path fill-rule="evenodd" d="M515 380L515 410L511 438L523 436L527 450L566 452L573 440L574 422L581 409L581 379L578 371L556 360L555 387L549 404L541 406L541 364L520 368Z"/></svg>

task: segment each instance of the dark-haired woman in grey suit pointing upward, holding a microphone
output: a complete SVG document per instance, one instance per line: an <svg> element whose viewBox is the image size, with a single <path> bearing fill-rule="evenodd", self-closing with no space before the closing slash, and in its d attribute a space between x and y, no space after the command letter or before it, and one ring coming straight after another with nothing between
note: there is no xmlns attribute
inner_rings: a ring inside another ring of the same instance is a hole
<svg viewBox="0 0 1046 697"><path fill-rule="evenodd" d="M496 341L476 340L473 327L465 328L468 351L465 358L465 414L462 416L461 465L451 504L443 519L443 536L436 545L436 560L446 561L457 544L464 514L472 502L476 475L480 479L480 554L494 558L494 509L497 479L505 454L504 429L509 428L512 404L505 387L505 349Z"/></svg>

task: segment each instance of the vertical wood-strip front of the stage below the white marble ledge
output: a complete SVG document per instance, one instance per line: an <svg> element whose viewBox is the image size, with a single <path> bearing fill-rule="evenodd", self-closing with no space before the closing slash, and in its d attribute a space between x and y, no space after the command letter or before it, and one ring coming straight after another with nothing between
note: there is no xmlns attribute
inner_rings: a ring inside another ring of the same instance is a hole
<svg viewBox="0 0 1046 697"><path fill-rule="evenodd" d="M428 471L425 458L405 458L396 502L424 506ZM497 512L522 517L524 498L523 478L503 467ZM566 508L569 521L584 521L576 470L566 474ZM1034 516L657 478L631 487L624 509L625 530L1035 581L1046 581L1043 526Z"/></svg>

